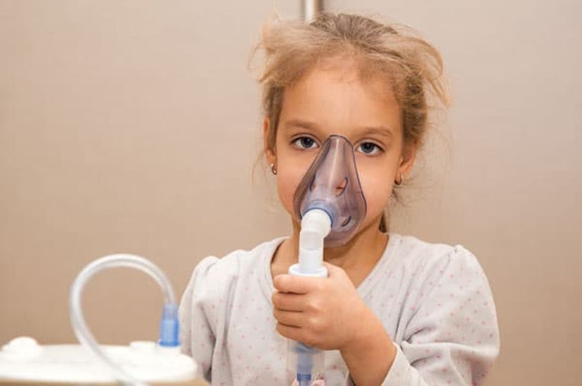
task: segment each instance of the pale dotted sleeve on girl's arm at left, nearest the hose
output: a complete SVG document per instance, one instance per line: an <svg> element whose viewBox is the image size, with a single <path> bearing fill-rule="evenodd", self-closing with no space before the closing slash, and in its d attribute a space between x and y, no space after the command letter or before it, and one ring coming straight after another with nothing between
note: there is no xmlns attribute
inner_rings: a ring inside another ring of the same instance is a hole
<svg viewBox="0 0 582 386"><path fill-rule="evenodd" d="M208 382L212 381L212 355L216 335L205 310L205 299L211 295L208 292L207 272L217 261L217 258L209 257L196 266L183 293L179 309L182 350L193 357L198 364L198 375Z"/></svg>

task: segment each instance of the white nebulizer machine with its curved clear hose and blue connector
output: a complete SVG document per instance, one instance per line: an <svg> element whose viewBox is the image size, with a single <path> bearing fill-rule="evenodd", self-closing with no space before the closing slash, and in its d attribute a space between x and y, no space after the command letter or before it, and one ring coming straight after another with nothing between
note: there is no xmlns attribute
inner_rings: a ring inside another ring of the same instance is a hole
<svg viewBox="0 0 582 386"><path fill-rule="evenodd" d="M164 308L157 342L137 341L129 346L98 345L81 310L86 281L110 267L131 267L149 274L162 288ZM39 345L19 337L0 350L0 385L205 385L196 379L197 366L181 354L178 308L164 273L144 258L119 254L87 265L72 284L70 321L81 345Z"/></svg>

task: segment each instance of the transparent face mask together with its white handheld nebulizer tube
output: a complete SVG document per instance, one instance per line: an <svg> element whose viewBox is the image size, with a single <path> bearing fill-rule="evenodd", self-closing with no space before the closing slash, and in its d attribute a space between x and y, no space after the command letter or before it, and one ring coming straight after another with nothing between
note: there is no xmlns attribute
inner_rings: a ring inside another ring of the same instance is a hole
<svg viewBox="0 0 582 386"><path fill-rule="evenodd" d="M323 248L341 246L358 232L366 215L354 147L341 135L330 135L299 183L294 197L301 219L299 262L290 274L327 277ZM315 385L324 379L325 352L302 342L289 341L287 374L299 386Z"/></svg>

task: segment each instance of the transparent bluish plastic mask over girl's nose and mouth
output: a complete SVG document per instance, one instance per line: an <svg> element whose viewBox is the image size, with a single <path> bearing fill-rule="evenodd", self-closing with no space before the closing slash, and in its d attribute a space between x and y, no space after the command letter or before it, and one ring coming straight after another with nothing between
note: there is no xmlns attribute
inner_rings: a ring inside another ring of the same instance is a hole
<svg viewBox="0 0 582 386"><path fill-rule="evenodd" d="M331 231L325 237L325 247L346 244L366 215L364 198L354 147L341 135L330 135L304 178L294 197L295 213L302 218L313 208L319 208L332 220Z"/></svg>

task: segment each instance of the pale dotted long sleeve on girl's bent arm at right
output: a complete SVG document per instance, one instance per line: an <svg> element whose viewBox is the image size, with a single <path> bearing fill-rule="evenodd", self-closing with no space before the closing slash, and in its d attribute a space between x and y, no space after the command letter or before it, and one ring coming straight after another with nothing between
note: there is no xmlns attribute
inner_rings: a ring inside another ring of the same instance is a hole
<svg viewBox="0 0 582 386"><path fill-rule="evenodd" d="M382 385L480 385L499 353L493 295L477 259L456 246L425 268Z"/></svg>

